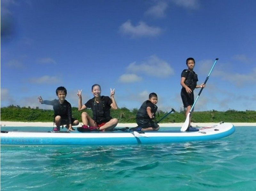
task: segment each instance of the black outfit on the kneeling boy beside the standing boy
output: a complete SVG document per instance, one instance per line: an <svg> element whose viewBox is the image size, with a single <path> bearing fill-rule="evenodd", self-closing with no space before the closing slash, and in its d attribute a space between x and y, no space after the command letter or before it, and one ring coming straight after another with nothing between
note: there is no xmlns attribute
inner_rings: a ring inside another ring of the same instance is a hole
<svg viewBox="0 0 256 191"><path fill-rule="evenodd" d="M154 116L156 116L157 106L153 103L151 103L149 100L142 103L140 106L140 109L137 112L136 115L136 122L138 126L140 127L153 127L157 128L158 125L153 121L152 118L148 116L147 113L147 107L151 108L151 113L154 113Z"/></svg>

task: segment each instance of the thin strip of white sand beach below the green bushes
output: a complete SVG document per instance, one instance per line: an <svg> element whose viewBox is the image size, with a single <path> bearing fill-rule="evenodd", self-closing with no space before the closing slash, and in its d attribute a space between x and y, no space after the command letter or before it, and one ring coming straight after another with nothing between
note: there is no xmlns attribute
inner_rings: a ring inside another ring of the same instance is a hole
<svg viewBox="0 0 256 191"><path fill-rule="evenodd" d="M229 123L229 122L227 122ZM230 122L232 123L232 122ZM82 126L79 123L78 126ZM212 123L192 123L192 126L212 126L218 124L217 122ZM256 126L256 123L232 123L234 126ZM159 123L160 127L181 127L183 123ZM53 127L53 122L20 122L20 121L1 121L1 127ZM118 123L116 127L135 127L136 123Z"/></svg>

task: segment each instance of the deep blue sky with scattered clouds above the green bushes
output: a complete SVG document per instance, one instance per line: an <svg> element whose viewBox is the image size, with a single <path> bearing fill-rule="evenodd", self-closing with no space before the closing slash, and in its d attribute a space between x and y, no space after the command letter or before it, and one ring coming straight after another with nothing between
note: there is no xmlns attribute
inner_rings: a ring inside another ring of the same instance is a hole
<svg viewBox="0 0 256 191"><path fill-rule="evenodd" d="M1 107L51 109L64 86L77 107L116 90L118 107L180 111L180 74L194 57L199 83L219 58L195 111L256 107L256 1L1 0ZM254 87L254 88L253 88ZM195 97L200 89L195 90Z"/></svg>

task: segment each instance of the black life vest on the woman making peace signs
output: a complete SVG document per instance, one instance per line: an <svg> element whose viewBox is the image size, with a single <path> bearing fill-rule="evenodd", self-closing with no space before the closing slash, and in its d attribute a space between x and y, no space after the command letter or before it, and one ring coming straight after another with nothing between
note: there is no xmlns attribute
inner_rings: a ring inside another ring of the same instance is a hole
<svg viewBox="0 0 256 191"><path fill-rule="evenodd" d="M95 98L92 100L92 113L93 113L93 120L99 125L104 122L108 122L111 118L110 116L110 109L105 105L104 96L100 97L100 102L96 103Z"/></svg>

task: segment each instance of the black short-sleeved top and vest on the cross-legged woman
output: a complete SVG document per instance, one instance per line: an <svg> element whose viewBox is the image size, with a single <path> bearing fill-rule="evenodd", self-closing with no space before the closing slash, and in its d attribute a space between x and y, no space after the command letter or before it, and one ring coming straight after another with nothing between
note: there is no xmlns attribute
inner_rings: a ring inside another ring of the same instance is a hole
<svg viewBox="0 0 256 191"><path fill-rule="evenodd" d="M93 120L99 125L106 123L112 119L110 116L112 100L108 96L101 96L100 102L95 102L95 98L88 100L84 105L87 108L92 108Z"/></svg>

